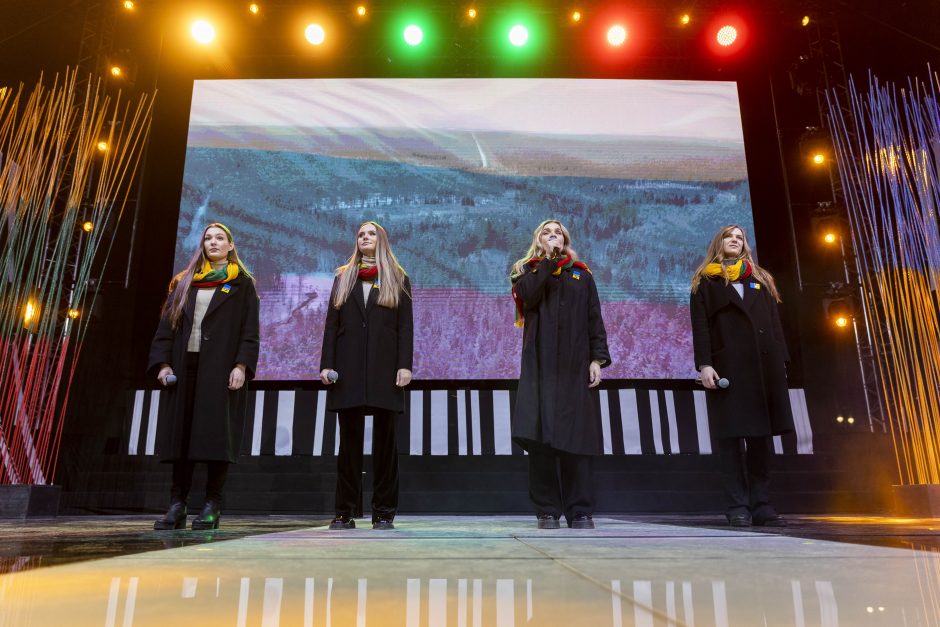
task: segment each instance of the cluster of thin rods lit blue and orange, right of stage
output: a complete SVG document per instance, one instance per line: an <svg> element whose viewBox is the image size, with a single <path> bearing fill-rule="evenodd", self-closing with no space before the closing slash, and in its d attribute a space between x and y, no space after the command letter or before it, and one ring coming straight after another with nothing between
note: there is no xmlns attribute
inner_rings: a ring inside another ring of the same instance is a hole
<svg viewBox="0 0 940 627"><path fill-rule="evenodd" d="M901 483L940 483L938 77L829 95L867 323Z"/></svg>

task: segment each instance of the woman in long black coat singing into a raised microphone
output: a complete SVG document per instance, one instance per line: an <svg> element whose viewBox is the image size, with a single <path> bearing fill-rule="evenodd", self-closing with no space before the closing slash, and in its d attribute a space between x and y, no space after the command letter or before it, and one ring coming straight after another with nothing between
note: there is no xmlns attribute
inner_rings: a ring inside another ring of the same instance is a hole
<svg viewBox="0 0 940 627"><path fill-rule="evenodd" d="M539 529L594 528L594 456L604 452L597 386L610 365L597 286L557 220L542 222L510 274L522 368L512 438L529 453Z"/></svg>

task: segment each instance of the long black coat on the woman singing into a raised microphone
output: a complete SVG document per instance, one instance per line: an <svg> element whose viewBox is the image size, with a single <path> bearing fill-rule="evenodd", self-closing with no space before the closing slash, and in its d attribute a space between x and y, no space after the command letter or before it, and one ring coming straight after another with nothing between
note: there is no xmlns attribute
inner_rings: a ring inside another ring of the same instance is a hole
<svg viewBox="0 0 940 627"><path fill-rule="evenodd" d="M526 266L515 282L524 303L522 369L512 437L578 455L604 452L596 388L589 388L592 361L610 365L607 331L591 273L578 268L552 276L554 263Z"/></svg>

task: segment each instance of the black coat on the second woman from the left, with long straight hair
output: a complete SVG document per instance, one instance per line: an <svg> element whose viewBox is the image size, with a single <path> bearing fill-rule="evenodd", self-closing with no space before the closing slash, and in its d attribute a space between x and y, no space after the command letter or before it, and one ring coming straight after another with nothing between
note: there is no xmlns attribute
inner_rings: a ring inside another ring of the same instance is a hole
<svg viewBox="0 0 940 627"><path fill-rule="evenodd" d="M323 329L320 370L332 369L339 380L327 387L326 408L330 411L375 407L400 412L405 392L395 385L398 371L411 370L414 353L414 321L411 288L399 294L398 307L383 307L376 301L378 288L362 297L357 282L340 309L332 306L336 281L330 293L330 308Z"/></svg>

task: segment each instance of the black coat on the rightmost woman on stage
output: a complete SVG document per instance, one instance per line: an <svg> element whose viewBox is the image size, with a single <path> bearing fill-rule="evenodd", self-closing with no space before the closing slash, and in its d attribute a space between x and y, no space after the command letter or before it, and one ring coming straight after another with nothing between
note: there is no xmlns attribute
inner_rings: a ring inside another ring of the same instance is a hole
<svg viewBox="0 0 940 627"><path fill-rule="evenodd" d="M790 433L790 356L777 303L759 281L743 285L742 299L723 278L702 279L689 299L696 368L712 366L731 384L708 391L711 429L719 438Z"/></svg>

